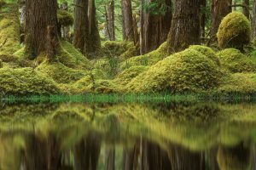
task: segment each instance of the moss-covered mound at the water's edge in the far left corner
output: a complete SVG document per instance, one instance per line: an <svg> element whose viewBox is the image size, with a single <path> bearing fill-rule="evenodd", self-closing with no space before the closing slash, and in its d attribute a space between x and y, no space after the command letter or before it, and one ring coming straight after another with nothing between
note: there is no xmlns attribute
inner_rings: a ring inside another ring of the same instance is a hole
<svg viewBox="0 0 256 170"><path fill-rule="evenodd" d="M0 69L2 94L59 94L55 82L32 68Z"/></svg>

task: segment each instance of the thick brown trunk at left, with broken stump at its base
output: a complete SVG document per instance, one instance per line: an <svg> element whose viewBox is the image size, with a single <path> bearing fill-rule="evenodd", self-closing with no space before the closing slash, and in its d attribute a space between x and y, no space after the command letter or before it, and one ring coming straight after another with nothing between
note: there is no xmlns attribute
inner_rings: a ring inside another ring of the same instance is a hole
<svg viewBox="0 0 256 170"><path fill-rule="evenodd" d="M57 1L26 0L26 53L31 59L49 48L48 26L51 27L51 39L58 42Z"/></svg>

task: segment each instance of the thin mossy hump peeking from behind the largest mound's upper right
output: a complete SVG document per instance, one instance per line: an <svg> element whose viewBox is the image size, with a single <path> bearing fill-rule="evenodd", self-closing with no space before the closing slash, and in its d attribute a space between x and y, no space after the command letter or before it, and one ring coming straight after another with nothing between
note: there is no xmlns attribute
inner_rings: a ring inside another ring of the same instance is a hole
<svg viewBox="0 0 256 170"><path fill-rule="evenodd" d="M212 61L214 61L216 65L220 65L220 61L215 52L212 50L212 48L208 48L207 46L201 45L192 45L189 47L189 49L194 49L195 51L198 51L201 54L206 55L209 59L212 59Z"/></svg>

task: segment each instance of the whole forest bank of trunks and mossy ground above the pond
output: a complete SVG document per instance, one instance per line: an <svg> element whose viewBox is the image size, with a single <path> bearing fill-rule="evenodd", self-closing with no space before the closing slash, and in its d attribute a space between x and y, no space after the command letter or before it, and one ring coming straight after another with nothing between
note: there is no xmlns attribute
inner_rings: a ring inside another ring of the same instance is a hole
<svg viewBox="0 0 256 170"><path fill-rule="evenodd" d="M256 94L256 0L0 0L0 96Z"/></svg>

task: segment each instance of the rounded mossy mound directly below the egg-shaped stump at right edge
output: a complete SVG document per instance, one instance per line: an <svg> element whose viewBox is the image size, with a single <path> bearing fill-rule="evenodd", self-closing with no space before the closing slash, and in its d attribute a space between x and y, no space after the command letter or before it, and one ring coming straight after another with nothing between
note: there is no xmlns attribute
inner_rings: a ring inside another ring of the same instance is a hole
<svg viewBox="0 0 256 170"><path fill-rule="evenodd" d="M242 54L235 48L224 49L217 54L221 65L231 72L256 71L256 60Z"/></svg>

